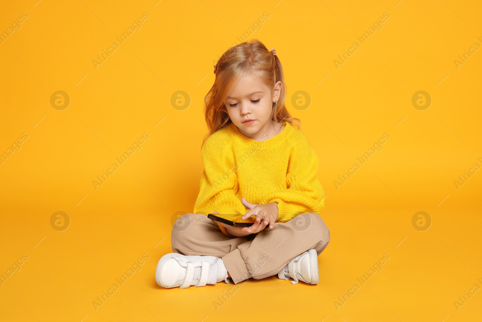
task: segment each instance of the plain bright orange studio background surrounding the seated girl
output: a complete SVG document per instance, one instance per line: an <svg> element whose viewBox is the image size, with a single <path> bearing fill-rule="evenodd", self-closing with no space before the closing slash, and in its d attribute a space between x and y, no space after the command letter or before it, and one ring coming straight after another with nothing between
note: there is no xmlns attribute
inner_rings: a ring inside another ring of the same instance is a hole
<svg viewBox="0 0 482 322"><path fill-rule="evenodd" d="M22 13L28 18L0 44L0 153L23 133L28 139L0 165L0 273L22 254L28 260L0 286L1 320L476 316L481 291L458 310L454 301L474 284L482 287L482 174L458 190L454 181L482 166L482 53L458 68L454 60L482 45L480 3L156 2L2 6L0 32ZM116 37L143 13L141 28L120 44ZM264 13L268 18L254 25ZM357 37L384 13L382 28L361 44ZM251 279L216 310L217 296L234 284L162 289L154 271L172 252L173 218L192 212L199 192L203 99L213 65L243 34L276 48L281 59L287 108L320 161L327 195L321 217L331 242L319 257L318 285ZM119 48L95 68L93 60L113 42ZM360 48L336 68L334 60L354 42ZM50 102L59 90L70 98L62 111ZM174 108L180 90L190 104ZM424 111L412 105L419 90L432 99ZM308 94L308 108L292 105L297 91ZM141 149L95 189L97 176L143 133ZM383 149L336 189L338 176L384 133L390 139ZM56 211L70 219L64 231L51 226ZM428 230L412 226L417 211L430 216ZM383 270L337 310L338 296L385 253ZM143 254L149 259L142 269L95 310L96 297Z"/></svg>

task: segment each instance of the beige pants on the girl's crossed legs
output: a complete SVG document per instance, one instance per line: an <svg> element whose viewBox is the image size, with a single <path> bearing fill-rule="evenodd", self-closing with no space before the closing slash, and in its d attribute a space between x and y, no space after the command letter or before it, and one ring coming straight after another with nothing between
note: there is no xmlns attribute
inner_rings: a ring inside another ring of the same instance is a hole
<svg viewBox="0 0 482 322"><path fill-rule="evenodd" d="M320 255L329 242L330 230L314 212L237 238L223 234L206 215L187 213L176 221L171 235L173 252L222 258L235 284L276 275L303 252L314 248Z"/></svg>

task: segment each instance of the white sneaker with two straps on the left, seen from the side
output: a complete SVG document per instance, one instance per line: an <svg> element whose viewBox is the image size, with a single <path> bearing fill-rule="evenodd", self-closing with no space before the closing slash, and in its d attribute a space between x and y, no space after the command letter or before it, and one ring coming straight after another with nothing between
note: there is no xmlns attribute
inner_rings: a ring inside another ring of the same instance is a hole
<svg viewBox="0 0 482 322"><path fill-rule="evenodd" d="M215 256L183 255L175 252L161 257L156 268L156 282L166 288L184 289L224 280L229 283L223 260Z"/></svg>

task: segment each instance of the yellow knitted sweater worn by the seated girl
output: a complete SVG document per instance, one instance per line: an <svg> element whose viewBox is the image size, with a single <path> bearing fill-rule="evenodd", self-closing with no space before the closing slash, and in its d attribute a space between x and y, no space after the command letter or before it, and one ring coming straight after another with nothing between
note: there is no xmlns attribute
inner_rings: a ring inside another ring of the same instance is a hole
<svg viewBox="0 0 482 322"><path fill-rule="evenodd" d="M236 222L249 209L241 197L254 204L278 203L277 223L324 208L324 192L316 177L318 157L306 136L291 124L261 141L242 134L233 123L214 132L202 145L204 171L194 206L196 214L218 211ZM226 228L218 224L221 231Z"/></svg>

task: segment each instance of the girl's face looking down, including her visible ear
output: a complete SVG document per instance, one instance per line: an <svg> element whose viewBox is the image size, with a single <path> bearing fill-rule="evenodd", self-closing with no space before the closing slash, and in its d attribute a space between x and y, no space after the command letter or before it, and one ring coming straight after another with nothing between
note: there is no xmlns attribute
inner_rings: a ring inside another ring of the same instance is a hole
<svg viewBox="0 0 482 322"><path fill-rule="evenodd" d="M254 139L270 132L273 127L271 111L280 93L281 81L275 84L271 93L259 74L244 75L234 85L224 104L234 125L242 134Z"/></svg>

